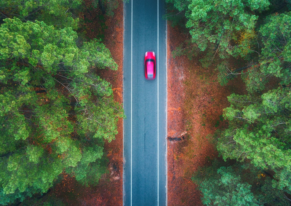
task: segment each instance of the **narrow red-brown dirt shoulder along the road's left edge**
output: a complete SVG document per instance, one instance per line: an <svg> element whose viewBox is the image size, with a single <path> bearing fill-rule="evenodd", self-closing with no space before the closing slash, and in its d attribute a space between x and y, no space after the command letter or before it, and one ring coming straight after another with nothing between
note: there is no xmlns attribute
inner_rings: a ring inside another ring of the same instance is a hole
<svg viewBox="0 0 291 206"><path fill-rule="evenodd" d="M114 100L123 104L123 1L114 10L114 17L106 19L104 44L110 50L118 70L103 70L100 76L112 85ZM123 119L119 119L115 140L105 143L108 152L109 174L104 175L98 191L104 205L123 205Z"/></svg>

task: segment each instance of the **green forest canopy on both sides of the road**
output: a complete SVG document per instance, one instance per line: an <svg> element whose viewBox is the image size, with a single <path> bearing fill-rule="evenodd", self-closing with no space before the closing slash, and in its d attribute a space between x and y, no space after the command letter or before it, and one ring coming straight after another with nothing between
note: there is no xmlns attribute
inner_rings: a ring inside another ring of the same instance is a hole
<svg viewBox="0 0 291 206"><path fill-rule="evenodd" d="M103 2L113 15L116 1ZM190 35L172 55L203 54L221 85L242 78L247 91L228 97L228 127L213 135L219 158L193 174L202 203L290 205L291 1L166 3L166 18ZM97 75L117 64L82 31L86 9L82 0L0 1L0 205L38 203L62 174L88 186L107 172L104 142L125 115Z"/></svg>

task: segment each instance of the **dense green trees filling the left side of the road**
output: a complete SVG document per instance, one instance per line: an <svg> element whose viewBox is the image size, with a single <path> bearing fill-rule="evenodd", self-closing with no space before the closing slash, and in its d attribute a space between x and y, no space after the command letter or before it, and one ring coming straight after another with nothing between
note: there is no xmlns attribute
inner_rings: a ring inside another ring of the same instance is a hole
<svg viewBox="0 0 291 206"><path fill-rule="evenodd" d="M116 5L102 1L107 15ZM97 75L117 64L86 37L88 9L82 0L0 2L0 205L62 205L45 194L64 177L94 186L108 172L104 142L125 116Z"/></svg>

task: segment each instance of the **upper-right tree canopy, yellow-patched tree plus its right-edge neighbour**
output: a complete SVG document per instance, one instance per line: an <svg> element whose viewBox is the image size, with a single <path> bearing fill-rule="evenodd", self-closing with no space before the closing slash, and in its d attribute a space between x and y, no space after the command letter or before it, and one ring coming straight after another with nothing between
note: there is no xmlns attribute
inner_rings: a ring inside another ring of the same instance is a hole
<svg viewBox="0 0 291 206"><path fill-rule="evenodd" d="M184 13L185 27L191 35L179 54L196 55L197 48L207 51L201 61L208 66L215 56L220 61L219 81L227 84L235 75L228 67L233 56L248 61L242 77L250 92L261 91L272 77L290 84L290 2L182 1L168 0L177 13ZM277 6L276 4L283 4ZM285 7L284 7L285 6ZM283 9L282 9L283 7ZM279 13L281 12L281 13ZM169 15L169 19L175 15ZM173 17L174 16L174 17ZM190 54L189 54L190 53Z"/></svg>

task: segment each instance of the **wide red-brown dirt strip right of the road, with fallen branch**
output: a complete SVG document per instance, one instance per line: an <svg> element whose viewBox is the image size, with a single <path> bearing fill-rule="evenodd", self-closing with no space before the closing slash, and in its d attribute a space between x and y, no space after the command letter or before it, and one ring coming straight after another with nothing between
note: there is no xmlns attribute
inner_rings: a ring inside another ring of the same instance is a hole
<svg viewBox="0 0 291 206"><path fill-rule="evenodd" d="M226 126L227 96L244 90L239 78L220 86L215 68L201 67L201 56L173 58L171 52L186 38L168 22L168 205L202 205L191 177L218 156L211 134ZM181 141L170 140L181 134Z"/></svg>

